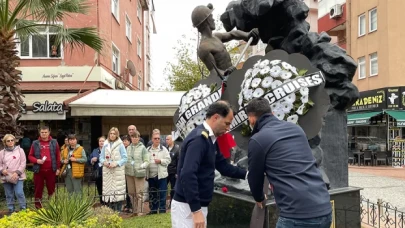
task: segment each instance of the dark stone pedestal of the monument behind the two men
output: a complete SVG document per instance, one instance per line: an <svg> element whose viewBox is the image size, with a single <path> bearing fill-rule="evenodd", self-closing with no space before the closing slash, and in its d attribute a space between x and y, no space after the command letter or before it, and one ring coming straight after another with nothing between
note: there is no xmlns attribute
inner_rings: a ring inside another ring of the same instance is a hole
<svg viewBox="0 0 405 228"><path fill-rule="evenodd" d="M333 204L334 224L331 228L360 228L360 190L346 187L329 191ZM239 193L214 192L214 198L208 208L208 227L210 228L247 228L250 225L255 202L251 196ZM268 211L266 228L276 227L278 210L274 199L266 203Z"/></svg>

